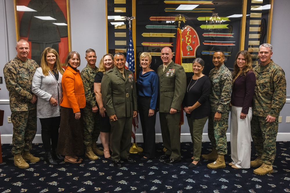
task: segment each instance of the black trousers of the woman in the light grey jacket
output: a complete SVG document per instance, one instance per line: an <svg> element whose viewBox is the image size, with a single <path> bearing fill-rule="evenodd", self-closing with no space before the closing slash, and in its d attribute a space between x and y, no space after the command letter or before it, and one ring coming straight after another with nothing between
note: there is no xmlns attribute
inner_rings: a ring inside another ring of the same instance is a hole
<svg viewBox="0 0 290 193"><path fill-rule="evenodd" d="M46 153L57 148L60 117L39 119L41 123L41 139ZM51 141L51 145L50 145Z"/></svg>

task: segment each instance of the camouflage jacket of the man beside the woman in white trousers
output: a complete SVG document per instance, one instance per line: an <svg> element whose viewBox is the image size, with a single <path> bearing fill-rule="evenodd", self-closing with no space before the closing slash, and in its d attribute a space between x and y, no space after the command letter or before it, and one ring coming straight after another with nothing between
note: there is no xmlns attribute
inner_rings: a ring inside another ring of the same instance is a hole
<svg viewBox="0 0 290 193"><path fill-rule="evenodd" d="M211 102L211 112L228 113L230 111L231 90L233 76L231 71L223 64L216 70L215 68L209 72L209 80L211 81L211 92L209 101Z"/></svg>

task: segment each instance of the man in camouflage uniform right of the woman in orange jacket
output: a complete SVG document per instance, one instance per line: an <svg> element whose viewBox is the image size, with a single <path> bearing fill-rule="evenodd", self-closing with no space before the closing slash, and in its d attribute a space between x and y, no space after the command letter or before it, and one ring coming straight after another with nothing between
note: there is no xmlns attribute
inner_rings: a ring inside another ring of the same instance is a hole
<svg viewBox="0 0 290 193"><path fill-rule="evenodd" d="M83 80L86 96L86 107L83 109L85 156L90 160L96 160L98 159L97 155L104 155L104 152L96 144L100 135L100 115L97 113L98 107L94 93L94 80L98 70L96 67L97 56L95 50L87 49L85 58L88 64L81 71L81 79Z"/></svg>

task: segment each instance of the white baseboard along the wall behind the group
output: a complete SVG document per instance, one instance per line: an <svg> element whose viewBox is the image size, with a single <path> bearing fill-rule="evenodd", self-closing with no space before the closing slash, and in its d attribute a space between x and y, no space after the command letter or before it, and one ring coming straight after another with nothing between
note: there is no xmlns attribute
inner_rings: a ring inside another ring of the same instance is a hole
<svg viewBox="0 0 290 193"><path fill-rule="evenodd" d="M230 141L230 133L226 133L227 141ZM162 142L161 133L155 134L155 141ZM180 137L181 142L191 142L190 133L181 133ZM209 141L209 137L207 133L202 134L202 141ZM290 141L290 133L278 133L276 141ZM97 141L101 143L100 139ZM133 142L133 139L132 139ZM143 143L142 133L136 133L136 142ZM12 144L12 134L1 135L1 143L2 144ZM33 140L33 143L42 143L41 134L36 134Z"/></svg>

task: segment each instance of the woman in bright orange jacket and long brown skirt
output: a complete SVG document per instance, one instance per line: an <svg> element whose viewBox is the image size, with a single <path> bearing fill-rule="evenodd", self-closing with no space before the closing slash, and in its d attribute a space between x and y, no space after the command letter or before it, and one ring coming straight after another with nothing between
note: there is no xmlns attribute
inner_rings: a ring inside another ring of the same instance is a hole
<svg viewBox="0 0 290 193"><path fill-rule="evenodd" d="M77 67L81 63L79 53L71 51L66 57L66 71L62 75L63 98L60 102L61 121L57 153L64 155L68 163L81 163L77 155L84 153L83 115L86 106L84 85Z"/></svg>

